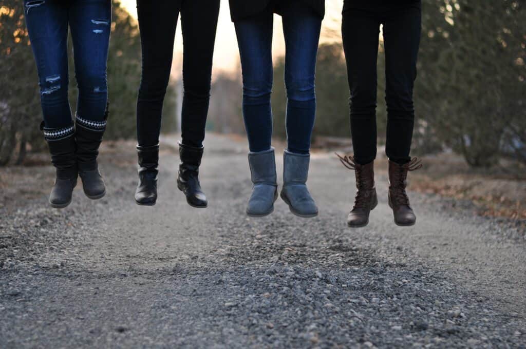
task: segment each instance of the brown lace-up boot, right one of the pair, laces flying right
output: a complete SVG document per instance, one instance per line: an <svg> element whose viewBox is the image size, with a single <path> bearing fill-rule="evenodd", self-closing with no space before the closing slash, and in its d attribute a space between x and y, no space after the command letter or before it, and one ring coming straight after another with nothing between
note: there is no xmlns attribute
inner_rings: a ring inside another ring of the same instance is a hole
<svg viewBox="0 0 526 349"><path fill-rule="evenodd" d="M395 223L401 227L409 227L417 221L406 193L407 172L421 167L421 160L417 158L403 165L389 160L389 207L393 210Z"/></svg>

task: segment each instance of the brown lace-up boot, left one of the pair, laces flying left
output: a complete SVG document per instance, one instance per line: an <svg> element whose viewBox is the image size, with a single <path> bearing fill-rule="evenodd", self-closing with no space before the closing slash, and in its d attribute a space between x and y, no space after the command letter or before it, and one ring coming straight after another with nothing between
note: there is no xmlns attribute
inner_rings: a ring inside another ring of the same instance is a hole
<svg viewBox="0 0 526 349"><path fill-rule="evenodd" d="M375 188L374 161L360 165L353 157L341 157L336 154L343 166L354 170L356 175L355 206L349 212L347 225L351 228L365 227L369 223L369 213L377 206L378 197Z"/></svg>

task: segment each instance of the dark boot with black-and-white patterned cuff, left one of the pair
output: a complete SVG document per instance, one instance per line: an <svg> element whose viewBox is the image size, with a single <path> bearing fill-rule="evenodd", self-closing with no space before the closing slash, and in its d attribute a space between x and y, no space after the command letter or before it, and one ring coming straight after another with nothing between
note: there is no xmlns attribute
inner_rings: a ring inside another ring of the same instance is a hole
<svg viewBox="0 0 526 349"><path fill-rule="evenodd" d="M41 124L49 146L51 162L56 169L56 179L49 194L52 207L61 209L69 205L77 185L77 160L75 158L75 128L72 126L50 129Z"/></svg>

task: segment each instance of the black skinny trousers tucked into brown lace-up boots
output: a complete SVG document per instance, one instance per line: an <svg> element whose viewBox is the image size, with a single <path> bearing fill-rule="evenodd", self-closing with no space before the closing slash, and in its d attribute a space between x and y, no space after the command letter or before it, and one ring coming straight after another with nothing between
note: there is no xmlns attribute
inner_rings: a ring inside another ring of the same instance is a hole
<svg viewBox="0 0 526 349"><path fill-rule="evenodd" d="M356 0L346 0L356 4ZM346 4L343 48L349 78L351 136L361 165L376 158L376 98L378 34L383 25L386 54L387 157L410 160L414 127L413 84L421 32L419 1L360 7Z"/></svg>

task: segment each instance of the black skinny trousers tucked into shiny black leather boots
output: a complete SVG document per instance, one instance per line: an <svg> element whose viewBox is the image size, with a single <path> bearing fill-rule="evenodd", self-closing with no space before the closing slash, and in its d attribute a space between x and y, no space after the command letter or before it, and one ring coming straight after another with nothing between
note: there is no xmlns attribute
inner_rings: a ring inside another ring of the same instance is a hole
<svg viewBox="0 0 526 349"><path fill-rule="evenodd" d="M201 147L210 99L219 0L137 0L143 74L137 100L139 146L157 145L170 78L177 17L183 30L182 141Z"/></svg>

